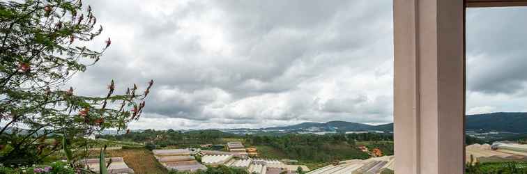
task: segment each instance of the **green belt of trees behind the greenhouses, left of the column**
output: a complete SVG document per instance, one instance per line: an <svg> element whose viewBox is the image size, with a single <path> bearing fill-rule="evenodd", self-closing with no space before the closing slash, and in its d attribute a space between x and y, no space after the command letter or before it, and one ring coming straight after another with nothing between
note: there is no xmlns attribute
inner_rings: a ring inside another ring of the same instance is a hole
<svg viewBox="0 0 527 174"><path fill-rule="evenodd" d="M134 141L144 143L147 148L164 148L174 145L177 148L199 148L200 144L221 144L224 139L240 139L247 146L266 145L283 153L290 159L312 162L331 162L341 159L367 159L369 155L360 151L356 143L368 141L368 148L380 148L385 155L393 154L390 134L286 134L282 136L252 136L224 133L216 130L181 132L169 129L146 129L129 134L105 135L102 139L114 141Z"/></svg>

